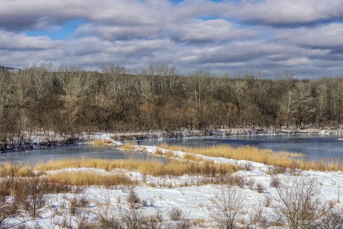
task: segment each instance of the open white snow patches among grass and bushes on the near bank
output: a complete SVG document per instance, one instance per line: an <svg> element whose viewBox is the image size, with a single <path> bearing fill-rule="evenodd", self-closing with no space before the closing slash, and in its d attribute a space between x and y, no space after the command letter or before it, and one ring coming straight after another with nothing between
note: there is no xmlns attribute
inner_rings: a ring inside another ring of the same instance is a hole
<svg viewBox="0 0 343 229"><path fill-rule="evenodd" d="M145 148L146 151L154 152L156 147L152 146L141 146ZM164 149L162 149L164 150ZM174 154L179 155L181 158L185 152L174 151ZM212 158L198 155L203 159L213 160L218 163L238 163L246 164L248 161L245 160L233 160L226 158ZM273 209L271 207L264 206L265 196L272 195L275 196L275 188L270 186L271 175L268 175L269 165L264 165L257 162L250 162L252 164L251 171L238 171L235 174L239 174L245 177L246 181L253 181L250 185L243 185L240 188L243 191L245 197L243 204L245 205L244 211L241 214L241 217L248 217L248 213L258 205L263 205L263 210L266 215L271 215ZM218 191L221 185L201 185L196 186L198 179L201 179L201 176L190 176L183 175L179 177L174 176L163 176L163 177L154 177L151 175L143 175L139 172L125 171L125 170L115 170L115 171L105 171L102 169L92 169L92 168L72 168L65 169L67 171L96 171L102 174L108 173L117 173L123 172L131 176L133 180L137 180L139 185L135 188L135 191L138 193L138 196L142 200L147 200L147 204L144 207L141 207L143 211L147 214L153 214L156 211L160 210L165 219L168 219L168 211L177 207L181 209L186 215L189 215L189 218L196 219L203 223L203 226L214 227L213 218L211 213L215 207L214 203L218 199ZM49 173L54 173L57 171L50 171ZM316 179L316 185L320 187L320 193L322 195L321 201L324 203L326 201L336 201L337 191L343 187L343 172L319 172L319 171L301 171L299 172L303 176L309 176L310 178ZM294 178L291 173L286 172L280 175L281 178L289 179ZM248 183L248 182L247 182ZM256 190L256 186L261 184L265 190L262 193L259 193ZM118 186L117 189L105 189L103 187L88 187L83 194L56 194L52 195L52 205L53 208L47 208L43 217L47 219L38 219L38 222L43 228L52 228L51 227L51 215L59 212L60 215L56 215L54 220L62 220L63 211L68 211L70 208L70 202L75 197L80 198L82 196L87 197L91 200L90 204L83 209L87 212L87 217L89 220L96 220L97 212L99 211L100 206L107 206L110 209L110 212L118 211L118 206L123 206L128 209L128 204L126 199L128 194L125 192L126 187ZM341 191L342 195L342 191ZM105 204L107 203L107 204ZM150 206L150 203L152 206ZM342 203L336 203L335 207L341 207ZM75 220L76 217L69 216L70 219ZM34 222L28 222L27 224L34 225ZM50 226L49 226L50 225Z"/></svg>

